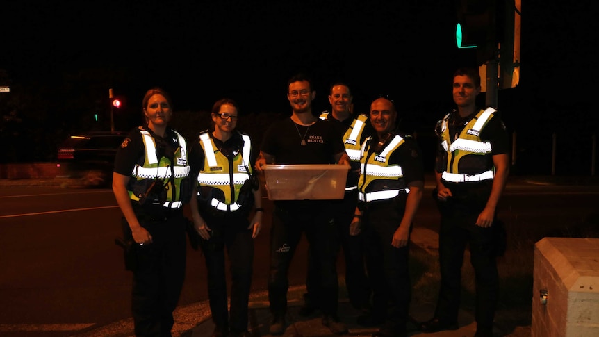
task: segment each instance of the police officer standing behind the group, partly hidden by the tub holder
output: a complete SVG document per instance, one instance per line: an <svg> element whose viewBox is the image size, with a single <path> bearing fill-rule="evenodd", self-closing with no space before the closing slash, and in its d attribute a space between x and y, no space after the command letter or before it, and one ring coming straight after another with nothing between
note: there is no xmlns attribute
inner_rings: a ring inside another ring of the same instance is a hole
<svg viewBox="0 0 599 337"><path fill-rule="evenodd" d="M370 285L364 268L363 236L350 236L350 223L358 202L360 149L362 142L372 134L372 125L368 121L368 115L359 114L352 117L352 101L352 92L347 83L340 81L333 83L329 88L331 111L321 113L320 119L327 120L340 129L340 134L343 135L345 152L350 157L352 168L347 173L345 195L343 199L331 202L331 208L338 241L343 247L343 257L345 258L347 297L349 297L350 303L355 309L366 314L370 311ZM309 258L313 258L311 252L309 252ZM306 290L308 293L304 295L304 306L299 312L302 316L313 313L318 308L318 298L321 298L318 290L320 274L314 268L314 265L315 261L309 261L309 269L306 275ZM359 320L359 322L361 321L363 319Z"/></svg>

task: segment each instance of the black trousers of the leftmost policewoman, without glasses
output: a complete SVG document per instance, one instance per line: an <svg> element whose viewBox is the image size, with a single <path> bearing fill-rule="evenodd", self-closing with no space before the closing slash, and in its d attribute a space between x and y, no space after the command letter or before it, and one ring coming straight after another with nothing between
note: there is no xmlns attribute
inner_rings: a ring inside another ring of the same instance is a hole
<svg viewBox="0 0 599 337"><path fill-rule="evenodd" d="M131 309L136 336L171 336L186 270L183 212L163 222L143 224L153 243L136 247Z"/></svg>

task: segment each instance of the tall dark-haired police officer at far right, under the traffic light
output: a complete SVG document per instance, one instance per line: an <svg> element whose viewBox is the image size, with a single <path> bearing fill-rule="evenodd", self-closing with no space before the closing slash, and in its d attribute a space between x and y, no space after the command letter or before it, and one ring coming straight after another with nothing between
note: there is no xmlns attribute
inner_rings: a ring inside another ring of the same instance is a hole
<svg viewBox="0 0 599 337"><path fill-rule="evenodd" d="M425 332L458 329L460 271L468 245L476 275L475 336L493 335L499 283L495 213L509 174L509 138L497 110L477 107L479 93L477 69L458 69L453 76L457 110L437 125L441 287L434 317L420 326Z"/></svg>

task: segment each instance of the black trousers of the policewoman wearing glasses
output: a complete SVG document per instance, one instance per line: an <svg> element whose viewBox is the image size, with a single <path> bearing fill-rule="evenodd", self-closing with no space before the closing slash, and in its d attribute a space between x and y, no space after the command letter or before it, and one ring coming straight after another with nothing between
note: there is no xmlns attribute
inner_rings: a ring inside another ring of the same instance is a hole
<svg viewBox="0 0 599 337"><path fill-rule="evenodd" d="M254 239L247 229L247 217L232 214L223 217L204 215L212 229L210 240L202 240L202 252L208 270L208 300L212 320L217 327L233 332L247 330L249 291L252 286ZM227 304L225 249L231 272L231 309Z"/></svg>

